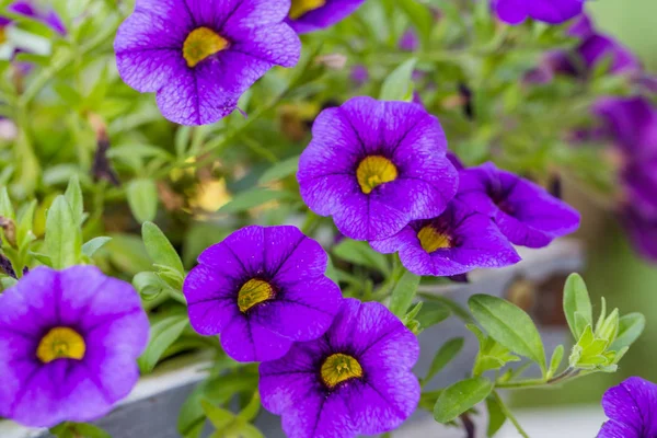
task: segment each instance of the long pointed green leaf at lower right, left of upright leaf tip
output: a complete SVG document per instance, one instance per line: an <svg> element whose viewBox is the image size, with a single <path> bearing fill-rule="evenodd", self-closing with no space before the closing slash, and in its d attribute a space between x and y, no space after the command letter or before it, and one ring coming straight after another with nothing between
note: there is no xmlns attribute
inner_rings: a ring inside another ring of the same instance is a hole
<svg viewBox="0 0 657 438"><path fill-rule="evenodd" d="M470 311L484 330L514 353L539 364L545 374L545 350L541 335L522 309L488 295L475 295L468 300Z"/></svg>

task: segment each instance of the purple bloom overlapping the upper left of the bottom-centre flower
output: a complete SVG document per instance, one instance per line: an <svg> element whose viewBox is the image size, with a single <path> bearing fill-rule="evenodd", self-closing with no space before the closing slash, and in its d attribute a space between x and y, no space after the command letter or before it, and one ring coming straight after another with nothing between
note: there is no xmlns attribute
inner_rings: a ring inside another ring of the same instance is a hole
<svg viewBox="0 0 657 438"><path fill-rule="evenodd" d="M183 290L189 321L203 335L220 334L240 361L273 360L298 341L331 326L342 293L325 275L322 246L290 226L251 226L198 257Z"/></svg>

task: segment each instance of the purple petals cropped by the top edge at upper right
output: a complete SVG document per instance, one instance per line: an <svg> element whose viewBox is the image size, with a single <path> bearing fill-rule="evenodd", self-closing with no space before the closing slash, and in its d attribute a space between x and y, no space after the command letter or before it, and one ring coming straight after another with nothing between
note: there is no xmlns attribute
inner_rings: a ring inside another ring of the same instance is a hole
<svg viewBox="0 0 657 438"><path fill-rule="evenodd" d="M585 0L493 0L493 9L499 20L508 24L520 24L533 19L550 24L560 24L579 15Z"/></svg>

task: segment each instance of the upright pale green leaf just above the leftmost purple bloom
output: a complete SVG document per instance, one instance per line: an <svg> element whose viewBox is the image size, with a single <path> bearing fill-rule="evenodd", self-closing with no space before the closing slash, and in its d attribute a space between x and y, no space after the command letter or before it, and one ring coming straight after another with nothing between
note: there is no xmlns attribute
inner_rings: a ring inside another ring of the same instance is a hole
<svg viewBox="0 0 657 438"><path fill-rule="evenodd" d="M76 265L82 253L82 231L66 197L59 195L46 217L46 249L55 269Z"/></svg>

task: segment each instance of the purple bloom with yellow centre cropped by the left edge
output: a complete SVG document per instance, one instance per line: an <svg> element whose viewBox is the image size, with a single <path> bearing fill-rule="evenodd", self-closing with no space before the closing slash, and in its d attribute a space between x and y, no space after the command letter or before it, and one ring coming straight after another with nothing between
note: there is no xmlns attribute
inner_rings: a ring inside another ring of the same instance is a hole
<svg viewBox="0 0 657 438"><path fill-rule="evenodd" d="M93 266L37 267L0 295L0 416L27 426L107 414L137 379L148 319Z"/></svg>

